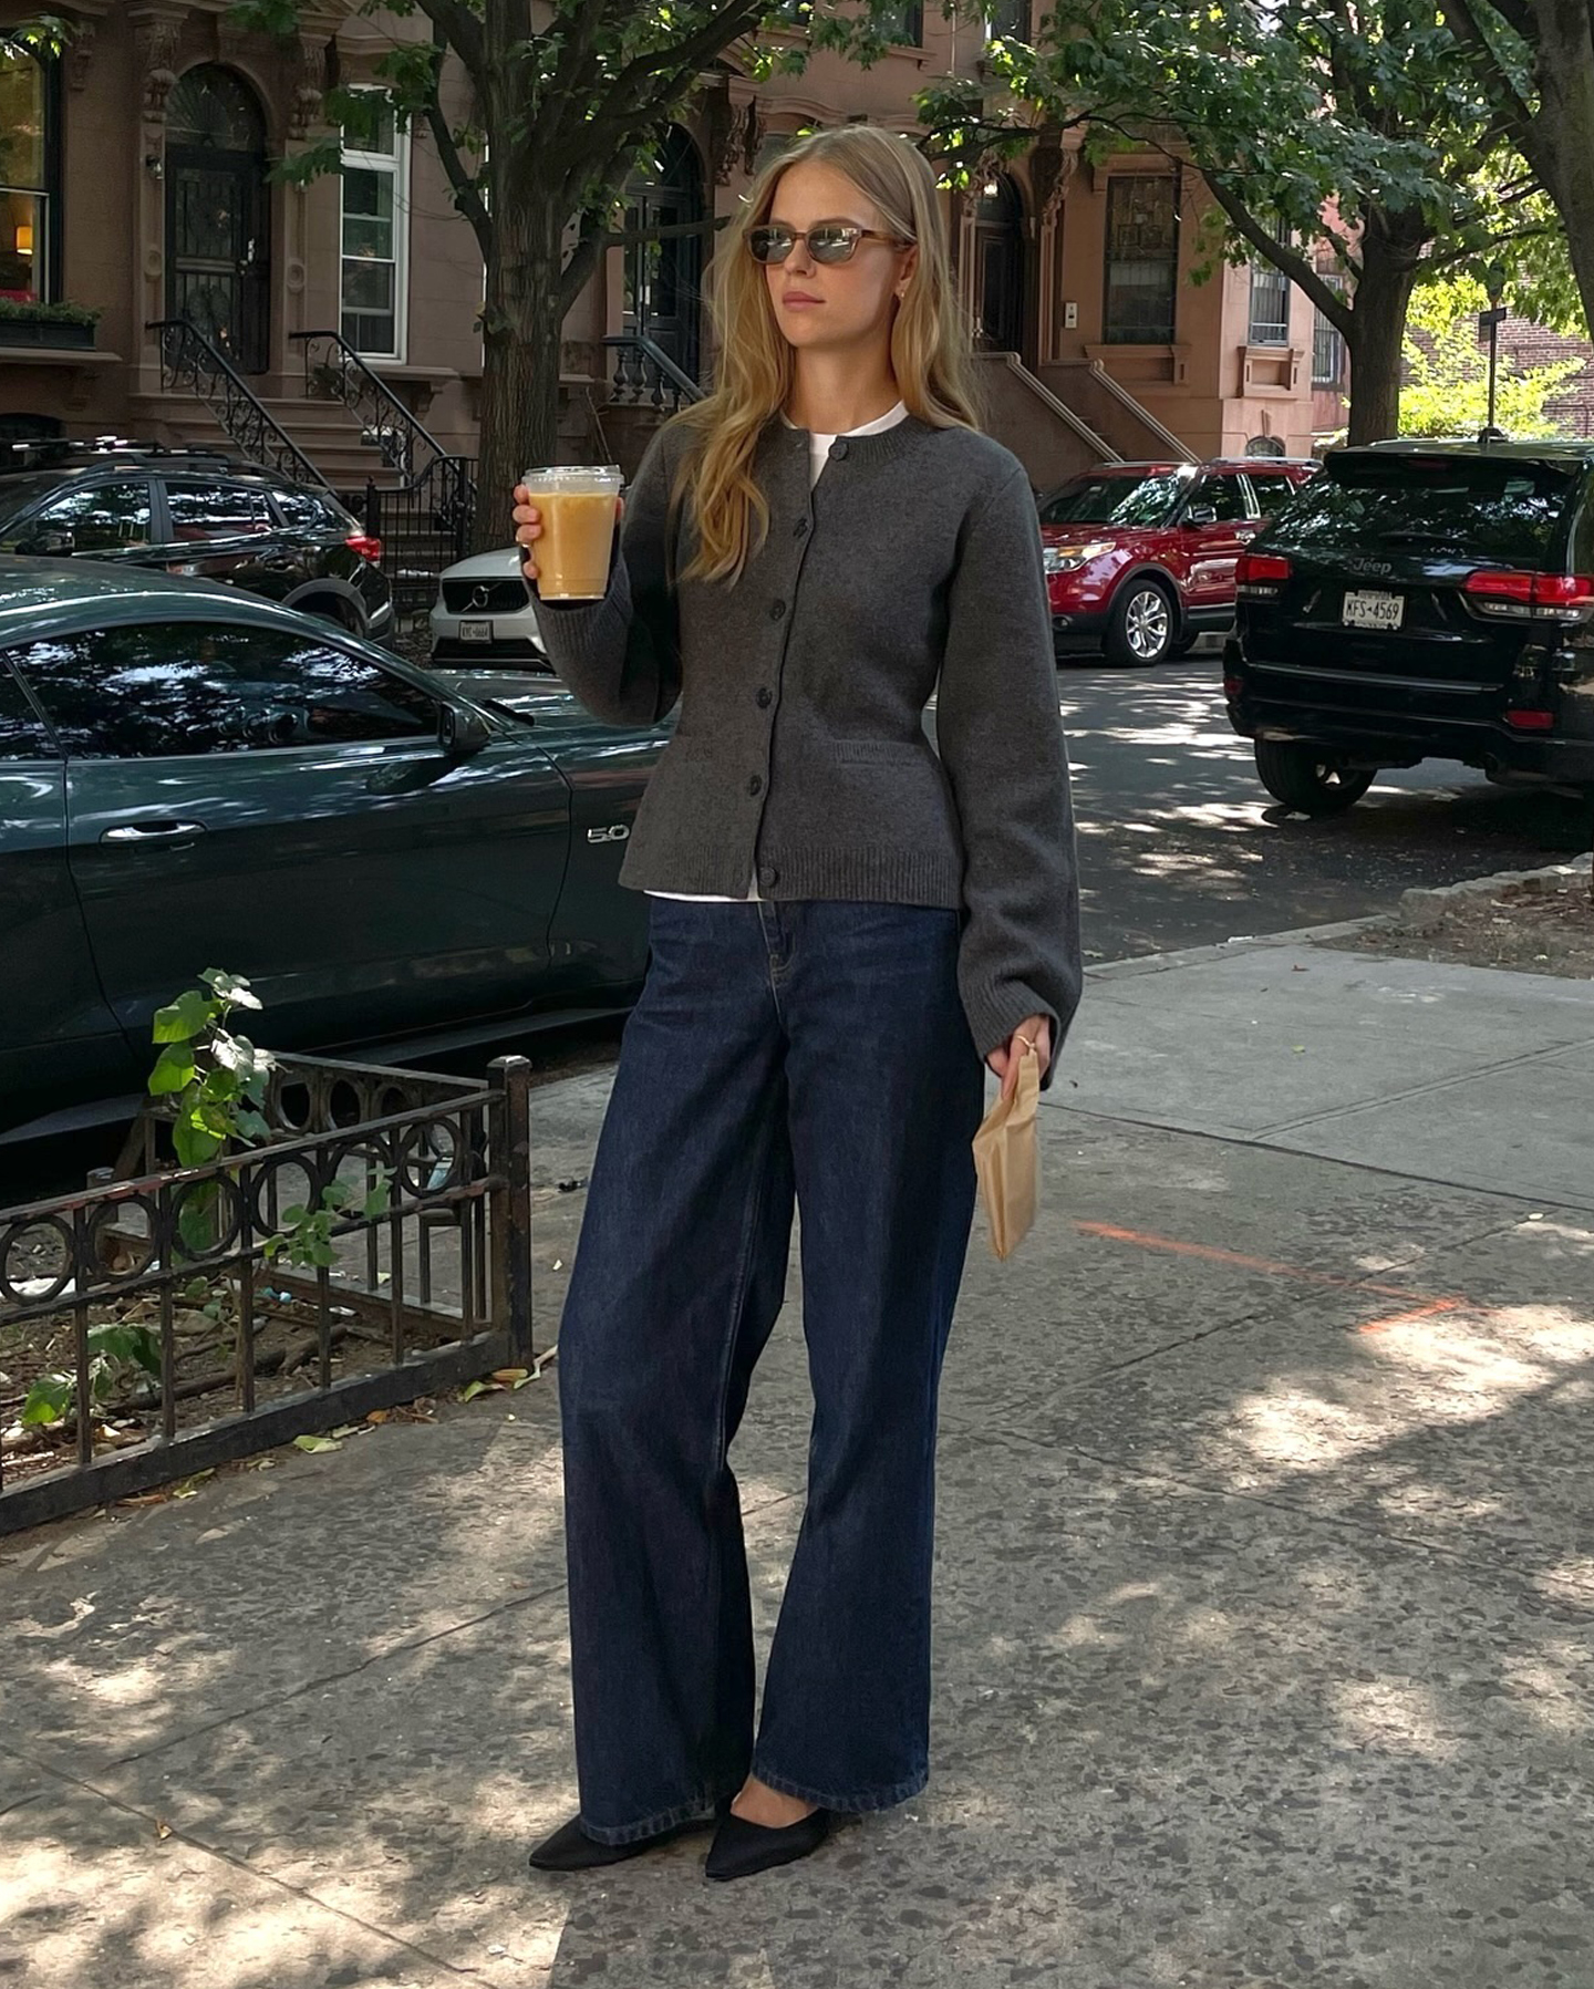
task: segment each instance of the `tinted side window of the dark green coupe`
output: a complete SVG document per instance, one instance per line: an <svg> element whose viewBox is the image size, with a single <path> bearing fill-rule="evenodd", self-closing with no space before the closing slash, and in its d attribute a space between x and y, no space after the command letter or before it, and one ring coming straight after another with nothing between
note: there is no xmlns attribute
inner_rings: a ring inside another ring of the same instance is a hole
<svg viewBox="0 0 1594 1989"><path fill-rule="evenodd" d="M438 724L402 676L275 629L96 629L30 642L12 662L80 760L428 738Z"/></svg>

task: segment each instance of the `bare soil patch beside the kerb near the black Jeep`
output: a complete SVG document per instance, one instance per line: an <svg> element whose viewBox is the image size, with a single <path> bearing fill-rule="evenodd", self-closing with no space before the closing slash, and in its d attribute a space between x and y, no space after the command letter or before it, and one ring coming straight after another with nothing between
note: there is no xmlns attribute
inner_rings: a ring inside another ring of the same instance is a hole
<svg viewBox="0 0 1594 1989"><path fill-rule="evenodd" d="M1594 981L1594 899L1588 877L1532 877L1467 891L1333 941L1345 953Z"/></svg>

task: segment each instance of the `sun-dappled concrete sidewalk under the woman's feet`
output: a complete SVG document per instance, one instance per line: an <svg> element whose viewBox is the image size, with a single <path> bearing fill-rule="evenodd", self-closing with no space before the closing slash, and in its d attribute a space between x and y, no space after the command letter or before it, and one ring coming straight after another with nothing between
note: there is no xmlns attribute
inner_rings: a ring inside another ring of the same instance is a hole
<svg viewBox="0 0 1594 1989"><path fill-rule="evenodd" d="M537 1094L543 1339L603 1094ZM746 1886L525 1870L573 1806L557 1370L0 1543L0 1985L1592 1989L1590 1104L1578 983L1093 975L953 1337L931 1786ZM764 1633L804 1398L794 1303Z"/></svg>

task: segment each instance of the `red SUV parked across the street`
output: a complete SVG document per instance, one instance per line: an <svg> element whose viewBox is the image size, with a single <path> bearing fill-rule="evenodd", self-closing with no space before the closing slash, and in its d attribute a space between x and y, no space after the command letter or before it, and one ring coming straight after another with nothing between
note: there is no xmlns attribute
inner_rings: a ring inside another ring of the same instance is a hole
<svg viewBox="0 0 1594 1989"><path fill-rule="evenodd" d="M1041 499L1057 654L1166 662L1234 625L1240 553L1321 465L1102 463Z"/></svg>

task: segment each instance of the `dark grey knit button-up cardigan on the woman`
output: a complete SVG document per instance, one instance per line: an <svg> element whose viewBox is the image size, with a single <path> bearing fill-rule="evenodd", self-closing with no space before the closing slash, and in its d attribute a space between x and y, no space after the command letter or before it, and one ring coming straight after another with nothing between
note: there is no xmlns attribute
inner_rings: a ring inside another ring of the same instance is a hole
<svg viewBox="0 0 1594 1989"><path fill-rule="evenodd" d="M965 428L810 436L772 422L768 535L734 583L681 581L667 426L629 491L603 601L541 609L553 668L617 726L681 704L621 881L639 891L963 911L985 1056L1079 1002L1079 889L1041 531L1017 457ZM935 748L923 712L935 696ZM939 752L937 752L939 748Z"/></svg>

